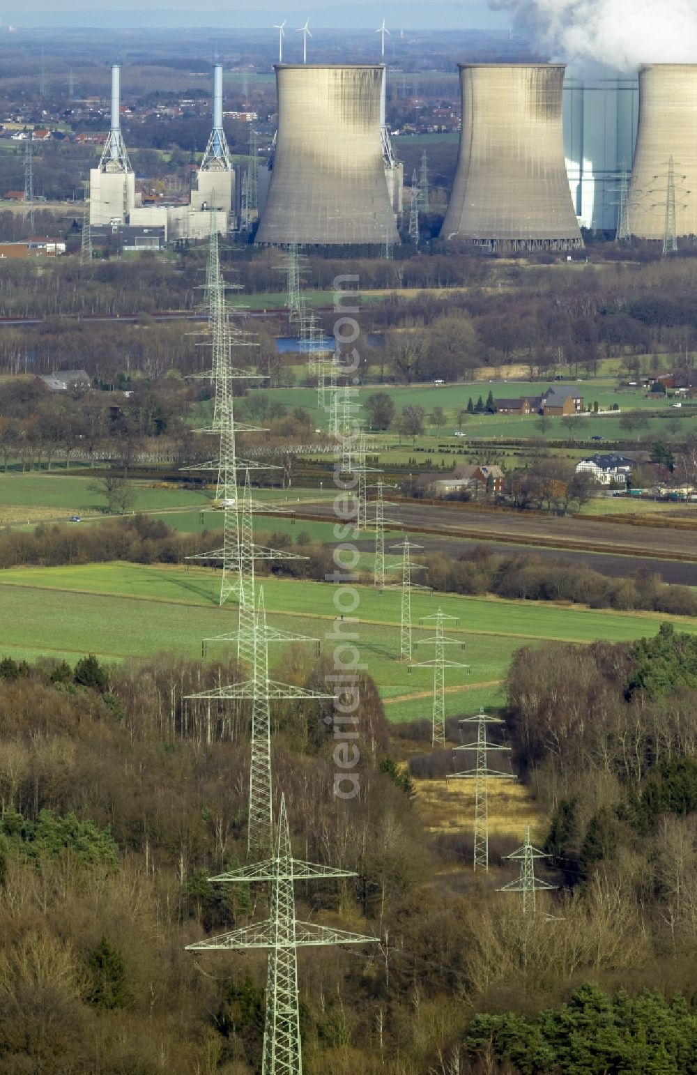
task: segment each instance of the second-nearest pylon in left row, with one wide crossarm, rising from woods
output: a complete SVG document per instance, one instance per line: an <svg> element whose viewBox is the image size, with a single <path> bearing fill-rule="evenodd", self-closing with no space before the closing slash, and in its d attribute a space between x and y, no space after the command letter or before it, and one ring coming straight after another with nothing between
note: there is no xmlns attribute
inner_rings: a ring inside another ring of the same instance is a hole
<svg viewBox="0 0 697 1075"><path fill-rule="evenodd" d="M249 828L247 847L250 855L268 854L272 835L271 784L271 719L270 703L282 699L324 701L335 692L307 690L294 684L278 683L268 678L268 637L263 587L259 591L259 606L255 613L253 664L251 678L215 687L213 690L187 694L188 700L232 702L251 700L251 762L249 768Z"/></svg>

